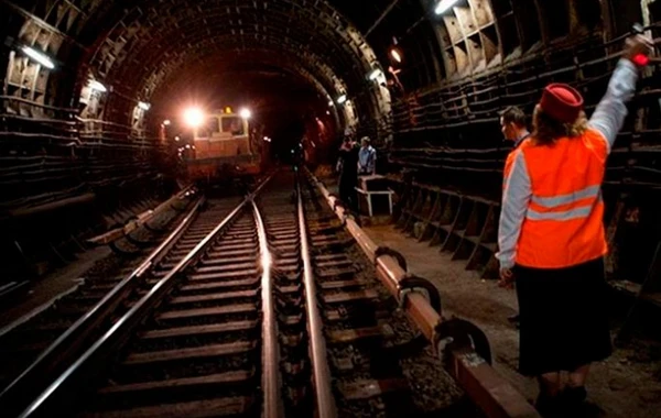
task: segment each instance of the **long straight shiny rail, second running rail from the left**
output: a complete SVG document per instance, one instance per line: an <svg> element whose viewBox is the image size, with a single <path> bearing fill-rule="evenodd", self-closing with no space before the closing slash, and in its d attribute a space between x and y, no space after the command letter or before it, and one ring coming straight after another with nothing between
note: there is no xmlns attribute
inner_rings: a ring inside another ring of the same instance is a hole
<svg viewBox="0 0 661 418"><path fill-rule="evenodd" d="M26 417L50 417L57 415L67 400L73 396L74 388L78 387L80 381L86 376L98 372L98 364L102 359L109 356L113 350L119 348L130 332L142 322L163 300L163 296L175 285L176 278L193 262L203 255L203 250L212 244L216 237L228 227L239 215L248 202L254 199L254 196L271 180L273 175L269 176L253 193L249 194L225 219L223 219L212 232L209 232L191 252L188 252L162 279L160 279L152 289L144 295L133 307L118 319L112 327L104 333L85 353L83 353L74 364L68 366L46 389L44 389L20 415L19 418Z"/></svg>

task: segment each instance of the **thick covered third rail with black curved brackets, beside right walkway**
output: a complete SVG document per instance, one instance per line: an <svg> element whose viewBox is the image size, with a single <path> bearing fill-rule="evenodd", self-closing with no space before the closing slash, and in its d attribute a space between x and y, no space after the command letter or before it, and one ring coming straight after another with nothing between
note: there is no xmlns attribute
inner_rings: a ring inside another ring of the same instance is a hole
<svg viewBox="0 0 661 418"><path fill-rule="evenodd" d="M378 255L377 244L349 218L337 199L310 172L306 174L334 210L345 227L356 239L365 254L373 261L377 276L399 300L400 305L433 343L434 350L443 360L446 371L455 378L473 402L489 418L541 418L507 380L500 376L472 346L474 337L481 333L467 321L445 320L430 304L427 297L415 288L403 288L407 272L397 258L389 254ZM402 292L405 290L405 292ZM486 337L485 337L486 338Z"/></svg>

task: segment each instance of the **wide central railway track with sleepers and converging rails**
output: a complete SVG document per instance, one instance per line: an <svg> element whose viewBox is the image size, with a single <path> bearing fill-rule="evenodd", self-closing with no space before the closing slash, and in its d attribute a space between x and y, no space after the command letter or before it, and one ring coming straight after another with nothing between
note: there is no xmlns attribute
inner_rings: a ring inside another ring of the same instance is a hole
<svg viewBox="0 0 661 418"><path fill-rule="evenodd" d="M300 182L278 174L195 230L19 416L480 417Z"/></svg>

